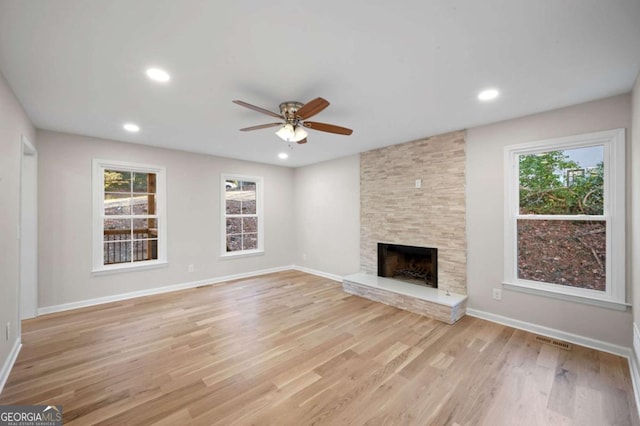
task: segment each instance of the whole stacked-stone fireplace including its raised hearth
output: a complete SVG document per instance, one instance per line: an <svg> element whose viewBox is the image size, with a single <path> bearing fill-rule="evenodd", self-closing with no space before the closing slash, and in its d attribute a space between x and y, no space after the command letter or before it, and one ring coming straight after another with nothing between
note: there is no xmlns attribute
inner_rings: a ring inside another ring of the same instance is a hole
<svg viewBox="0 0 640 426"><path fill-rule="evenodd" d="M361 272L343 278L346 292L448 324L465 314L465 136L451 132L360 154ZM386 250L403 259L380 264L381 241L401 242ZM406 246L437 250L418 260Z"/></svg>

